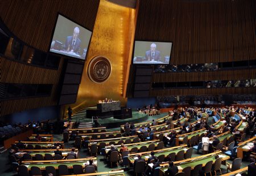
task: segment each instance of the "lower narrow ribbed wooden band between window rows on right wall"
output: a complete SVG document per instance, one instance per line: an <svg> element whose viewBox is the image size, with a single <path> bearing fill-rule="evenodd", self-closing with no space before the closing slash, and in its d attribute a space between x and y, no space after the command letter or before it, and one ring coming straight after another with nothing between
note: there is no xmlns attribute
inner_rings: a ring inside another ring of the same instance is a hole
<svg viewBox="0 0 256 176"><path fill-rule="evenodd" d="M151 89L150 96L176 96L176 95L246 95L255 94L256 87L229 87L208 89Z"/></svg>

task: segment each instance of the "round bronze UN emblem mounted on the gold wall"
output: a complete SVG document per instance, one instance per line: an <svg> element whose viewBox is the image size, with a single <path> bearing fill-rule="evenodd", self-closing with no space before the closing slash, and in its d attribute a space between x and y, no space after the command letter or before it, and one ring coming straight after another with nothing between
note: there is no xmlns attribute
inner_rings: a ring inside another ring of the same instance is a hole
<svg viewBox="0 0 256 176"><path fill-rule="evenodd" d="M111 70L109 60L104 56L97 56L90 61L88 75L94 83L103 83L108 80Z"/></svg>

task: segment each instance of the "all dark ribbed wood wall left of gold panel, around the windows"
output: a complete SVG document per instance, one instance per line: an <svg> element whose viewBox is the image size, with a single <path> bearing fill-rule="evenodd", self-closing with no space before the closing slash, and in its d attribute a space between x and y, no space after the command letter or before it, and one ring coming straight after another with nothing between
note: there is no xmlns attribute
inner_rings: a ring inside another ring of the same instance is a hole
<svg viewBox="0 0 256 176"><path fill-rule="evenodd" d="M48 51L57 13L93 30L100 0L0 1L0 18L16 37ZM64 57L58 70L25 65L0 57L1 83L53 84L51 96L0 101L0 116L26 109L57 105Z"/></svg>

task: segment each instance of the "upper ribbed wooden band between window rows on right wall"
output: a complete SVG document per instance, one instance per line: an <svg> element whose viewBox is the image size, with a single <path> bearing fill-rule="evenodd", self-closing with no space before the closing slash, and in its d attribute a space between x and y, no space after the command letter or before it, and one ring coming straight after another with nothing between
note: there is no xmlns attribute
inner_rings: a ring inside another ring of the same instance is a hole
<svg viewBox="0 0 256 176"><path fill-rule="evenodd" d="M256 79L256 69L222 70L207 72L169 72L154 73L152 82L183 82L183 81L208 81L208 80L245 80Z"/></svg>

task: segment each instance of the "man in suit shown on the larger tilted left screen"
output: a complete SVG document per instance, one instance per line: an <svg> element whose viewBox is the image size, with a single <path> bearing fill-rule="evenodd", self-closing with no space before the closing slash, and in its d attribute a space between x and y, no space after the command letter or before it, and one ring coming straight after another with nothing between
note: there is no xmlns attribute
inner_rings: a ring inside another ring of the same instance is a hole
<svg viewBox="0 0 256 176"><path fill-rule="evenodd" d="M81 40L79 36L79 27L75 27L73 36L68 36L65 41L64 50L71 53L76 53L80 55L80 44Z"/></svg>

